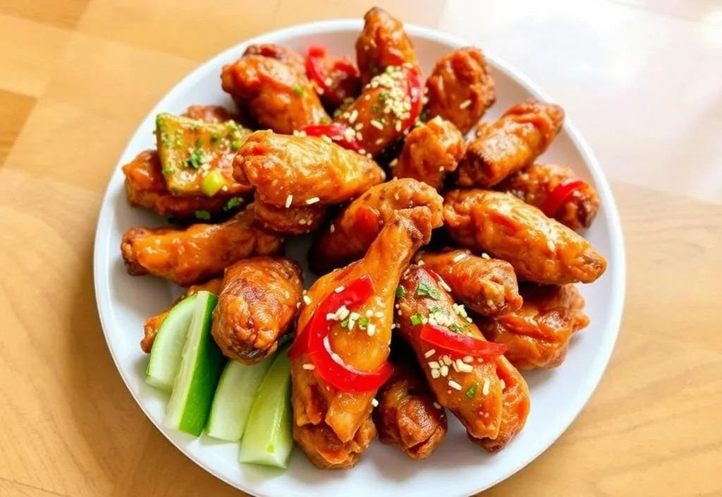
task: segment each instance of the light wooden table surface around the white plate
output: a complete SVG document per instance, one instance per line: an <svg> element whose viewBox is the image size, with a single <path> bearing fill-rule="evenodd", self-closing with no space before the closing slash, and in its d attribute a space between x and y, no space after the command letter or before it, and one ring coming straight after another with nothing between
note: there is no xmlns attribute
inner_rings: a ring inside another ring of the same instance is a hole
<svg viewBox="0 0 722 497"><path fill-rule="evenodd" d="M627 301L604 379L487 495L722 495L721 4L377 3L558 98L622 215ZM165 440L113 366L92 285L100 199L139 121L199 62L371 5L0 0L0 496L240 495Z"/></svg>

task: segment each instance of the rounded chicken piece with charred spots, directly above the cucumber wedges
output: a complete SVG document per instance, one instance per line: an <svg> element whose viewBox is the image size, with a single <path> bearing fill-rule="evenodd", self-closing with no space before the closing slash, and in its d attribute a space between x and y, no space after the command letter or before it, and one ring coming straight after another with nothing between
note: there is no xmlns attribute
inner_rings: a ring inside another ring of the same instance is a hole
<svg viewBox="0 0 722 497"><path fill-rule="evenodd" d="M252 257L225 269L211 333L229 359L255 364L276 352L303 291L300 266L284 257Z"/></svg>

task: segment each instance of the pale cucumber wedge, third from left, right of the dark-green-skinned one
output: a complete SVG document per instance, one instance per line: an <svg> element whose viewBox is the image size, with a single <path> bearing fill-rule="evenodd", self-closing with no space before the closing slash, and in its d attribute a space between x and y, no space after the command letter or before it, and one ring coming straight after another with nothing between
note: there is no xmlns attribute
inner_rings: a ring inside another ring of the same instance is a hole
<svg viewBox="0 0 722 497"><path fill-rule="evenodd" d="M273 358L267 358L253 366L246 366L237 360L228 361L213 397L211 417L206 429L210 436L230 442L240 440L258 386L272 362Z"/></svg>

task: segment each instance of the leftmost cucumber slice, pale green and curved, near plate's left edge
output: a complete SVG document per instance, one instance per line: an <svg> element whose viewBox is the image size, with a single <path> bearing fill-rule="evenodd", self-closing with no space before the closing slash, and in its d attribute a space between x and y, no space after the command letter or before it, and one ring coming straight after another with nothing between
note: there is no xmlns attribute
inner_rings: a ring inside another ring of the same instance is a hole
<svg viewBox="0 0 722 497"><path fill-rule="evenodd" d="M170 392L173 389L178 368L181 366L181 353L186 343L188 327L191 326L196 295L184 298L170 309L165 316L150 350L145 382L157 389Z"/></svg>

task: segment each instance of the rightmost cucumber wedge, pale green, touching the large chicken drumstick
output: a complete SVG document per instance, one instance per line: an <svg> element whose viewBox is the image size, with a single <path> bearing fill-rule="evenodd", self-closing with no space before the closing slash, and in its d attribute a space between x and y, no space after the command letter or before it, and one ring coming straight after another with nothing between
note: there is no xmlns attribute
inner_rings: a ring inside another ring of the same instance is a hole
<svg viewBox="0 0 722 497"><path fill-rule="evenodd" d="M279 352L258 388L240 444L240 462L288 467L291 436L291 360Z"/></svg>

